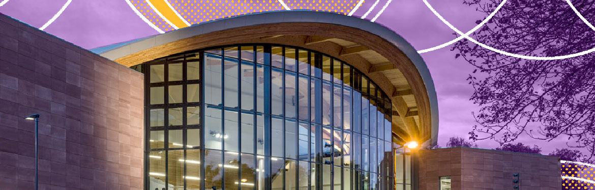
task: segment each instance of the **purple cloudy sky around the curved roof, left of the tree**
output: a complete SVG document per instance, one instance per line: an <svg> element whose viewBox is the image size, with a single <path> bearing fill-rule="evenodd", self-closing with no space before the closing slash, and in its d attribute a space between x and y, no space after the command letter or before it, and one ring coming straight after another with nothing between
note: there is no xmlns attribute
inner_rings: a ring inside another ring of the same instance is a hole
<svg viewBox="0 0 595 190"><path fill-rule="evenodd" d="M10 0L0 7L0 12L39 28L65 2L67 0ZM354 15L361 17L374 2L375 0L367 0ZM373 18L386 2L387 0L379 0L367 18ZM428 2L446 20L464 32L475 27L476 20L486 17L475 11L474 7L463 5L462 0ZM417 50L438 46L455 38L454 32L425 7L421 0L393 0L376 22L400 34ZM45 31L86 49L158 34L134 14L125 0L73 0ZM477 105L469 101L473 89L465 80L473 67L461 59L454 59L455 53L450 51L450 47L422 53L421 56L430 69L438 94L439 144L444 146L452 136L468 137L467 133L475 124L471 112L478 110ZM545 154L555 148L566 147L564 139L546 143L524 136L517 141L538 144ZM478 141L478 144L487 149L498 146L487 140Z"/></svg>

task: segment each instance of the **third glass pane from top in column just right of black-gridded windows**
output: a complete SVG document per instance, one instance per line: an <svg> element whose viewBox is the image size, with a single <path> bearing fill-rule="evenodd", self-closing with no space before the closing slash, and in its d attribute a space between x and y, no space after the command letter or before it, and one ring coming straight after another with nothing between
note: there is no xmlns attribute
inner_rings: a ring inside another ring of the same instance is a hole
<svg viewBox="0 0 595 190"><path fill-rule="evenodd" d="M205 108L205 147L221 150L223 129L221 128L221 108Z"/></svg>

